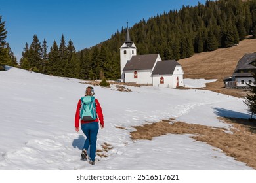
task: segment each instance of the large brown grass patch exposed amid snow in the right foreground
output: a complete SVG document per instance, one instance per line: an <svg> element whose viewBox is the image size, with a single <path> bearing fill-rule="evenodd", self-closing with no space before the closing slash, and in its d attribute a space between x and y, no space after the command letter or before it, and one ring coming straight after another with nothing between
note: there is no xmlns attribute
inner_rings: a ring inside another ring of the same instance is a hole
<svg viewBox="0 0 256 183"><path fill-rule="evenodd" d="M223 122L232 124L232 133L226 133L226 129L209 127L199 124L187 124L185 122L173 122L171 120L160 121L154 124L145 124L135 127L137 131L131 132L132 139L148 139L160 135L194 134L191 138L196 141L206 142L211 146L223 150L227 156L234 157L237 161L246 163L256 169L256 134L253 132L255 124L247 120L237 118L219 118Z"/></svg>

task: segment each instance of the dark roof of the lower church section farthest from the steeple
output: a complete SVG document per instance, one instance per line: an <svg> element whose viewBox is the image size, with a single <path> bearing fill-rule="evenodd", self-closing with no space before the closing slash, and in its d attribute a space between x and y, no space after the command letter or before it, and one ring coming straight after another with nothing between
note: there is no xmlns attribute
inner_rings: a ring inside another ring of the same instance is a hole
<svg viewBox="0 0 256 183"><path fill-rule="evenodd" d="M156 67L152 72L152 75L169 75L169 74L172 75L177 65L180 65L180 64L174 59L158 61L156 63Z"/></svg>

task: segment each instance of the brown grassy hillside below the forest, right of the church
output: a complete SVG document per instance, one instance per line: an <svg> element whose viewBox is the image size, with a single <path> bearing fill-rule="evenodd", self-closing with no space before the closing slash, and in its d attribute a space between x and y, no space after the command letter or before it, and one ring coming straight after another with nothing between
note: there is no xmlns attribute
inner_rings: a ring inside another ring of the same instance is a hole
<svg viewBox="0 0 256 183"><path fill-rule="evenodd" d="M184 78L217 79L216 82L207 84L205 89L235 97L245 97L244 90L224 88L223 79L232 75L238 61L245 53L252 52L256 52L256 39L245 39L237 46L194 54L178 62L184 70Z"/></svg>

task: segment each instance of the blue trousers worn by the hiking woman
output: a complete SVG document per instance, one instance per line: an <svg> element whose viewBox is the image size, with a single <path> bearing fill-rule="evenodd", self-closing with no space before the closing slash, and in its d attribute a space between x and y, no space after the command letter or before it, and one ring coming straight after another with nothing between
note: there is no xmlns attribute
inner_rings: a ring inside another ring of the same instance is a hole
<svg viewBox="0 0 256 183"><path fill-rule="evenodd" d="M81 129L85 136L87 137L85 140L85 144L83 148L88 152L88 148L90 146L90 158L92 161L95 161L96 156L96 141L98 135L98 122L90 122L81 125Z"/></svg>

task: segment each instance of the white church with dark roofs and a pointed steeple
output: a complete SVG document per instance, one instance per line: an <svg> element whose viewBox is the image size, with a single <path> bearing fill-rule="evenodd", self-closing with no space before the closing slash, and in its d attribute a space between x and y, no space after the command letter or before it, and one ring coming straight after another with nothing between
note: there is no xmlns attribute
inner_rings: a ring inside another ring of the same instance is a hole
<svg viewBox="0 0 256 183"><path fill-rule="evenodd" d="M161 60L159 54L137 55L127 27L120 48L121 82L177 88L183 85L184 71L175 60Z"/></svg>

